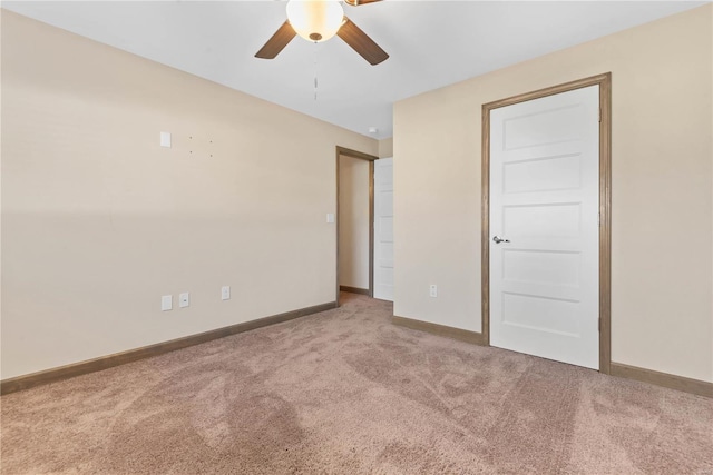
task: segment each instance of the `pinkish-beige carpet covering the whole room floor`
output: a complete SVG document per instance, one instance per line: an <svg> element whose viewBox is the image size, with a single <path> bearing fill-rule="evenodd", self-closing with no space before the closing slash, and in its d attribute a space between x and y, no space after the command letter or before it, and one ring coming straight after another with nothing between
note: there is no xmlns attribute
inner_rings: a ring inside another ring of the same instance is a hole
<svg viewBox="0 0 713 475"><path fill-rule="evenodd" d="M3 396L3 474L713 474L713 399L336 310Z"/></svg>

